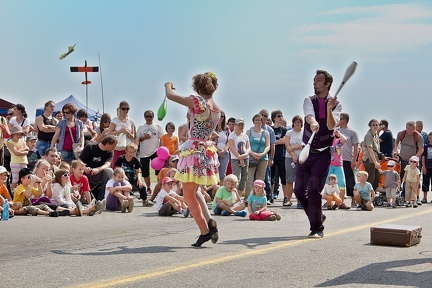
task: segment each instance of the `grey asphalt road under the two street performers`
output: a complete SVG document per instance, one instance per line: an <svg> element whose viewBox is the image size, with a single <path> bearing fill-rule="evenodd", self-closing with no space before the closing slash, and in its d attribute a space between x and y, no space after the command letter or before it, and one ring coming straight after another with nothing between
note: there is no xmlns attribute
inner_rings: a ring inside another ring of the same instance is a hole
<svg viewBox="0 0 432 288"><path fill-rule="evenodd" d="M348 202L348 201L346 201ZM0 287L432 287L432 204L325 211L325 237L307 239L303 210L281 221L215 216L220 238L202 248L192 218L131 214L16 216L0 222ZM370 245L381 223L423 227L419 245Z"/></svg>

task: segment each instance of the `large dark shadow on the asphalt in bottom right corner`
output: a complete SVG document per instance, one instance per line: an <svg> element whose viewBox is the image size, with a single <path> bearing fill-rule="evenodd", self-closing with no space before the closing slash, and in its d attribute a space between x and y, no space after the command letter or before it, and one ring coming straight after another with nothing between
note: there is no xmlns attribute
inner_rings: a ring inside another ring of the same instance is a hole
<svg viewBox="0 0 432 288"><path fill-rule="evenodd" d="M373 263L315 287L373 284L384 286L431 287L432 258Z"/></svg>

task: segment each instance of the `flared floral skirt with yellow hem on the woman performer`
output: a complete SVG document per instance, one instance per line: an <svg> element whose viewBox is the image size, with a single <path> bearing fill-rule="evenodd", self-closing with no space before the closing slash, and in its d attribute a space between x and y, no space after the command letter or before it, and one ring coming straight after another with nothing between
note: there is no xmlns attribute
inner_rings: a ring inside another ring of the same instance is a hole
<svg viewBox="0 0 432 288"><path fill-rule="evenodd" d="M219 182L217 148L212 141L189 139L180 148L175 179L183 183L212 185Z"/></svg>

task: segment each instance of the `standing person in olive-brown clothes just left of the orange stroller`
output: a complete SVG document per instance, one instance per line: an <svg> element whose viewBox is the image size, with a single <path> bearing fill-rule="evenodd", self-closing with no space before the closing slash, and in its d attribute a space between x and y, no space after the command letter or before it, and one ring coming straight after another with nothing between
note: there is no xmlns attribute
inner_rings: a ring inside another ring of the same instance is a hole
<svg viewBox="0 0 432 288"><path fill-rule="evenodd" d="M369 131L366 133L363 140L363 165L368 173L367 182L372 185L375 191L381 177L381 165L379 159L379 137L378 137L378 120L372 119L369 121ZM358 203L360 204L360 203Z"/></svg>

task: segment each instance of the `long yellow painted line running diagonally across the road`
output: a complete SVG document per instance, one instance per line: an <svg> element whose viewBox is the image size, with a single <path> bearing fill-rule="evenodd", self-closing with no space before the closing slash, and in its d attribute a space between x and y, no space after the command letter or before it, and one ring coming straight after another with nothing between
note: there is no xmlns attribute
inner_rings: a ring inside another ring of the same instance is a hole
<svg viewBox="0 0 432 288"><path fill-rule="evenodd" d="M343 235L343 234L348 234L351 232L359 231L362 229L369 228L371 226L376 226L376 225L380 225L380 224L384 224L384 223L397 222L397 221L408 219L408 218L418 217L420 215L428 214L431 212L432 212L432 209L427 209L427 210L424 210L421 212L417 212L415 214L406 214L406 215L398 217L398 218L392 218L389 220L383 220L383 221L378 221L378 222L374 222L374 223L368 223L368 224L355 226L355 227L351 227L351 228L344 228L341 230L337 230L335 232L326 233L325 238L334 237L334 236ZM103 287L125 285L125 284L130 284L133 282L142 281L145 279L156 278L156 277L160 277L160 276L164 276L164 275L168 275L168 274L174 274L174 273L178 273L178 272L185 271L185 270L191 270L194 268L202 268L203 266L216 265L216 264L220 264L220 263L226 263L226 262L229 262L231 260L238 260L239 258L245 258L245 257L260 255L260 254L264 254L264 253L267 253L270 251L274 251L274 250L278 250L278 249L282 249L282 248L286 248L286 247L297 246L297 245L300 245L300 244L303 244L306 242L310 243L311 241L314 241L314 240L308 239L308 238L299 239L299 240L290 240L290 241L282 242L282 243L278 243L278 244L266 245L265 247L260 247L260 248L254 249L254 250L246 250L243 252L237 252L235 255L227 255L227 256L222 256L222 257L206 259L206 260L202 260L202 261L199 261L196 263L191 263L191 264L182 265L182 266L174 266L171 268L167 267L167 268L164 268L163 271L155 271L155 272L150 272L147 274L122 276L122 277L118 277L118 278L113 278L113 279L108 279L108 280L103 280L103 281L98 281L98 282L93 282L93 283L84 283L84 284L74 286L74 287L75 288L84 288L84 287L103 288Z"/></svg>

